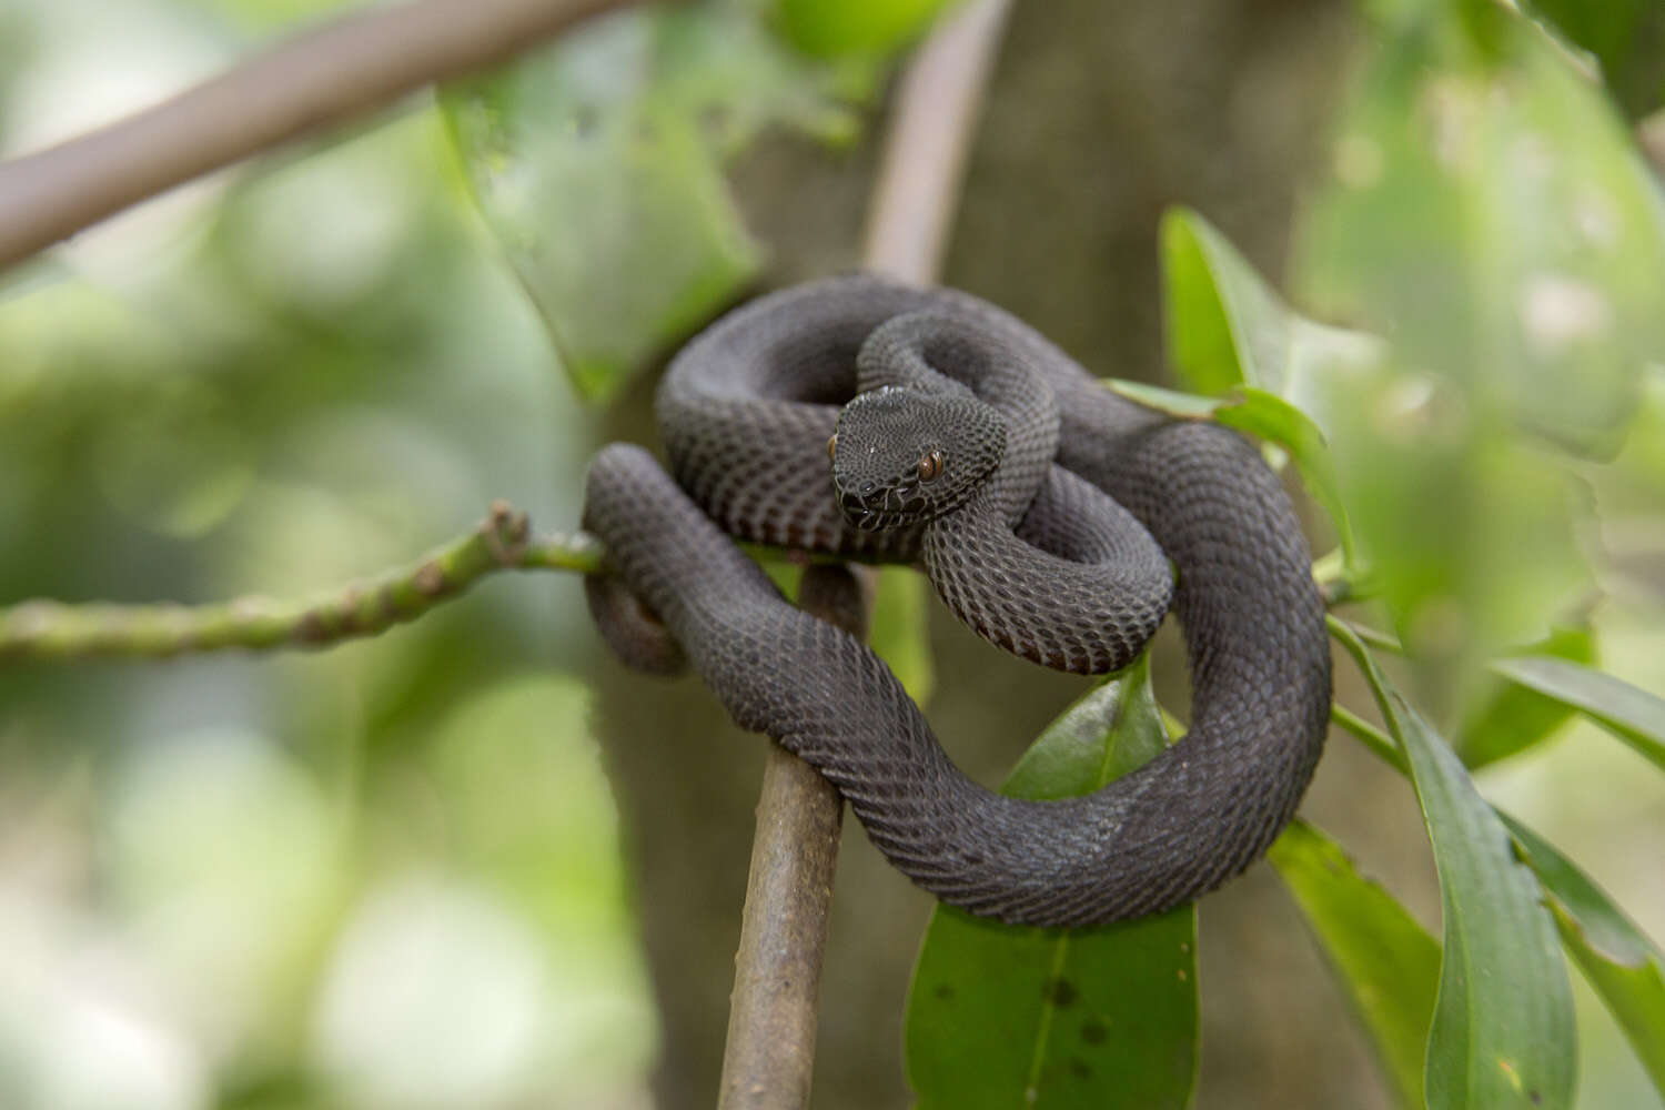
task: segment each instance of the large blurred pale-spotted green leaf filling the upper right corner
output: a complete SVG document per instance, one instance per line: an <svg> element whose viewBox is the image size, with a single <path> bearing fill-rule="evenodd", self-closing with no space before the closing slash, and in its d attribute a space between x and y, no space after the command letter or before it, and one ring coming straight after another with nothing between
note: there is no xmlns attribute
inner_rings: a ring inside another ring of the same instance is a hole
<svg viewBox="0 0 1665 1110"><path fill-rule="evenodd" d="M1384 42L1304 226L1307 300L1494 413L1610 453L1665 353L1665 205L1612 107L1500 5ZM1475 27L1485 42L1475 42Z"/></svg>

